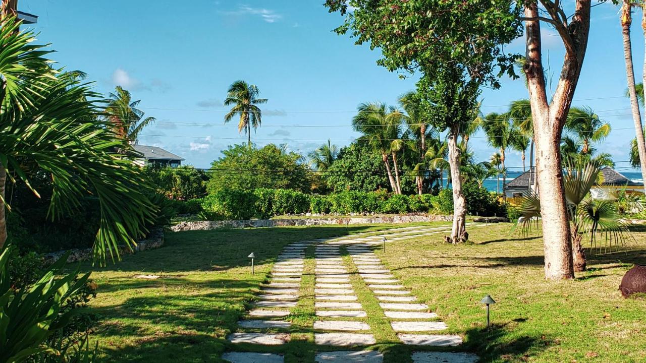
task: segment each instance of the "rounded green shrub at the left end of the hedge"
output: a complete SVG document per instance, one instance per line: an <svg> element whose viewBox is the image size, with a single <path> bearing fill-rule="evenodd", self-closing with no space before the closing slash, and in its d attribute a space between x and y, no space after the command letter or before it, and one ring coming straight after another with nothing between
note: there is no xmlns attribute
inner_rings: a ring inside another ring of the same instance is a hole
<svg viewBox="0 0 646 363"><path fill-rule="evenodd" d="M220 189L202 200L202 208L225 219L248 220L256 215L256 196L251 192Z"/></svg>

